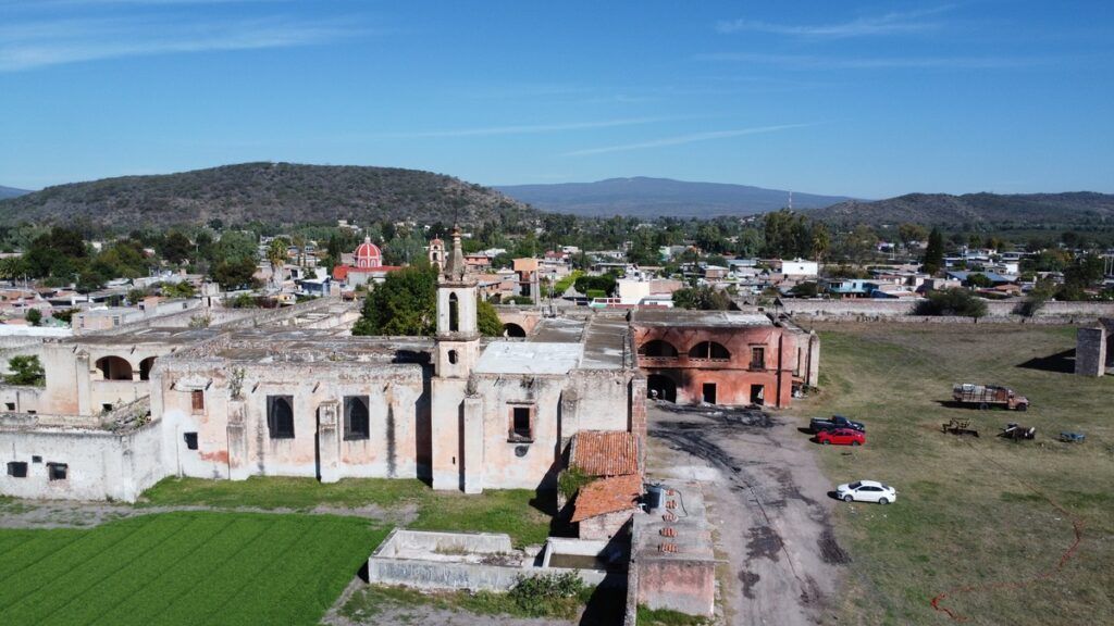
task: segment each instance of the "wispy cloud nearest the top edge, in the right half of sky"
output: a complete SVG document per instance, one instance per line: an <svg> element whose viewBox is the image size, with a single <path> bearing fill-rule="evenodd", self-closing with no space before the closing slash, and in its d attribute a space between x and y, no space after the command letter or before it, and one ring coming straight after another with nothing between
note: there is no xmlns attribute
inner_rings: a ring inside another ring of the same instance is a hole
<svg viewBox="0 0 1114 626"><path fill-rule="evenodd" d="M746 19L722 20L715 25L715 29L724 33L750 31L795 37L831 38L901 35L937 29L941 23L928 18L950 10L950 6L936 7L919 11L864 16L850 21L824 25L780 25Z"/></svg>

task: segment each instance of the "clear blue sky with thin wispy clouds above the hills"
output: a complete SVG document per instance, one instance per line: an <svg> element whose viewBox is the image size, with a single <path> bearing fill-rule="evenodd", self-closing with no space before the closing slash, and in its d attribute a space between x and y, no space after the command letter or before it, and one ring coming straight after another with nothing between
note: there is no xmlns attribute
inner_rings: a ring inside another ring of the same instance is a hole
<svg viewBox="0 0 1114 626"><path fill-rule="evenodd" d="M0 0L23 188L286 160L1114 193L1112 113L1110 0Z"/></svg>

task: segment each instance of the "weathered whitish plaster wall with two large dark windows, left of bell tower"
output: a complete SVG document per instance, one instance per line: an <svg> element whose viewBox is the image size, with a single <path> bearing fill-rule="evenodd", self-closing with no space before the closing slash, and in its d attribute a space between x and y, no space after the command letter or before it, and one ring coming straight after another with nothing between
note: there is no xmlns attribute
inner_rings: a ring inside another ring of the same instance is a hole
<svg viewBox="0 0 1114 626"><path fill-rule="evenodd" d="M235 398L232 387L238 375L243 378L240 398ZM183 476L414 478L424 473L419 468L419 422L428 420L426 375L419 364L225 366L184 361L156 370L158 393L152 400L165 422L166 462ZM193 409L195 390L204 394L199 411ZM268 395L293 397L294 438L271 437ZM345 395L368 398L369 439L345 439ZM336 408L336 419L326 429L320 418L322 408L330 404ZM197 433L197 450L187 449L187 432ZM329 462L330 472L324 471L322 461Z"/></svg>

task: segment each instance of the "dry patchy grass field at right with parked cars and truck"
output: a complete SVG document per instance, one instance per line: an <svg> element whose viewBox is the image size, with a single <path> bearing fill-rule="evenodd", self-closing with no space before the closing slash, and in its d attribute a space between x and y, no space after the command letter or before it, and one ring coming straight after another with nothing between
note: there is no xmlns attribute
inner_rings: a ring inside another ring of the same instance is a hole
<svg viewBox="0 0 1114 626"><path fill-rule="evenodd" d="M878 479L898 489L888 507L837 507L837 535L853 559L840 624L1114 624L1114 376L1064 371L1074 329L821 331L821 392L794 412L867 423L867 446L818 450L833 485ZM949 407L955 382L1006 384L1033 405ZM952 417L971 418L981 437L942 433ZM1007 421L1035 426L1037 440L995 437ZM1064 430L1087 441L1061 443ZM1057 567L1073 524L1082 540ZM940 594L955 618L930 605Z"/></svg>

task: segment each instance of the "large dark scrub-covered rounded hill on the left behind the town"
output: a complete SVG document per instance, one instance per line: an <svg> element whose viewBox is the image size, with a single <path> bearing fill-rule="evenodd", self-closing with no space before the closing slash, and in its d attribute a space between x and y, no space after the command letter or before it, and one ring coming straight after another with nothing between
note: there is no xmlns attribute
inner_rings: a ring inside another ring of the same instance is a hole
<svg viewBox="0 0 1114 626"><path fill-rule="evenodd" d="M87 222L108 228L260 221L517 223L532 208L451 176L389 167L246 163L47 187L0 200L0 224Z"/></svg>

